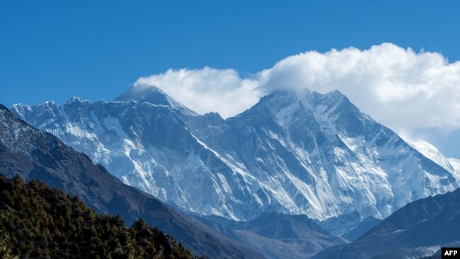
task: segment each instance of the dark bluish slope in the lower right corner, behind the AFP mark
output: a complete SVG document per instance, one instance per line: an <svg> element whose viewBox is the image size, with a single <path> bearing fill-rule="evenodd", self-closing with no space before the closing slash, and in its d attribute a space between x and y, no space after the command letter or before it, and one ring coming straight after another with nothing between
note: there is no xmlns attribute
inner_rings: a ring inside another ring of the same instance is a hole
<svg viewBox="0 0 460 259"><path fill-rule="evenodd" d="M460 189L411 202L357 241L314 258L422 258L460 241Z"/></svg>

